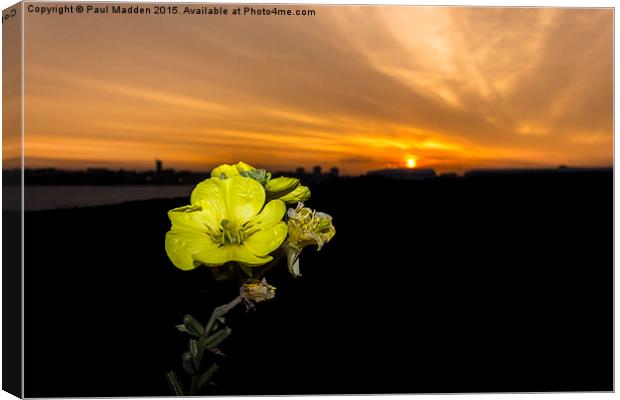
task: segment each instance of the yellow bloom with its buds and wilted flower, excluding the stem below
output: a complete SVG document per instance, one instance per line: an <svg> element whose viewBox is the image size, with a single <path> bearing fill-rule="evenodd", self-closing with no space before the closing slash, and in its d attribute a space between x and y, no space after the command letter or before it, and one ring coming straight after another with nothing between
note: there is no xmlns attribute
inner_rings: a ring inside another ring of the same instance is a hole
<svg viewBox="0 0 620 400"><path fill-rule="evenodd" d="M299 179L272 178L243 162L220 165L194 188L189 205L168 212L166 253L182 270L230 262L248 268L272 261L282 248L298 276L301 249L320 249L335 234L329 215L304 207L309 198Z"/></svg>

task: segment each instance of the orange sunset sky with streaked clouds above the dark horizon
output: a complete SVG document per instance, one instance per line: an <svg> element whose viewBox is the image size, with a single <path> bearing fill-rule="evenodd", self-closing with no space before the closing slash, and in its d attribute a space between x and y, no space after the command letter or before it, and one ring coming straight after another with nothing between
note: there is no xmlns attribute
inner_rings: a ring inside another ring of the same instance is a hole
<svg viewBox="0 0 620 400"><path fill-rule="evenodd" d="M27 166L611 165L611 9L312 8L26 14Z"/></svg>

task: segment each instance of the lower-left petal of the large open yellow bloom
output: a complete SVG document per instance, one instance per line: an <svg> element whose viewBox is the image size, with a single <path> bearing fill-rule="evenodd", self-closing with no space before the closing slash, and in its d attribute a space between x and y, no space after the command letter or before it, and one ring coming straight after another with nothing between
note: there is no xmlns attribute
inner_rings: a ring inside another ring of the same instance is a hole
<svg viewBox="0 0 620 400"><path fill-rule="evenodd" d="M200 260L217 246L206 233L171 230L166 234L166 254L172 263L182 270L199 266L202 263Z"/></svg>

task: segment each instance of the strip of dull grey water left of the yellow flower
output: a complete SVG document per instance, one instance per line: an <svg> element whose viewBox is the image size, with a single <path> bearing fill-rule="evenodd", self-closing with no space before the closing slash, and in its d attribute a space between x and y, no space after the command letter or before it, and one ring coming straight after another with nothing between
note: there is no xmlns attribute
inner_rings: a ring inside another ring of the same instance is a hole
<svg viewBox="0 0 620 400"><path fill-rule="evenodd" d="M119 204L127 201L188 197L193 185L26 186L26 211Z"/></svg>

